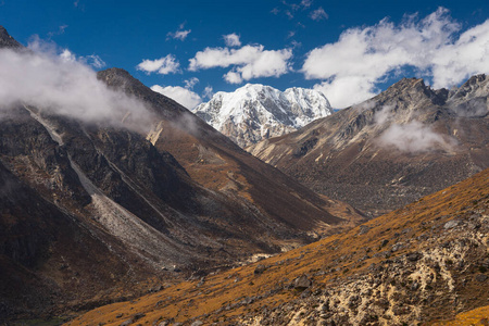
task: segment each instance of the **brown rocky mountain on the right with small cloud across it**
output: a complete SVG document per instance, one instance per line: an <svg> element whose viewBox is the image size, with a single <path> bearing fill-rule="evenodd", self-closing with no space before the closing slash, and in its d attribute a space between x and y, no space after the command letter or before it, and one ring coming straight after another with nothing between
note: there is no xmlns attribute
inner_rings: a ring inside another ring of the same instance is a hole
<svg viewBox="0 0 489 326"><path fill-rule="evenodd" d="M248 150L312 189L378 215L488 167L488 95L485 75L450 92L402 79Z"/></svg>

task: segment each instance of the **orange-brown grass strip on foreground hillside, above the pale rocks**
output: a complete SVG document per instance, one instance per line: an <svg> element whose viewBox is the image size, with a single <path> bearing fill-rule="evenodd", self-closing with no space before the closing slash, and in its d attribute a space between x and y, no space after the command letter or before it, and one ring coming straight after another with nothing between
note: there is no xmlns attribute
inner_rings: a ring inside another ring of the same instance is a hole
<svg viewBox="0 0 489 326"><path fill-rule="evenodd" d="M175 322L186 322L198 317L204 324L233 321L235 316L243 315L247 312L263 310L265 306L274 308L297 298L300 293L293 289L284 288L284 285L290 284L300 275L309 275L313 279L312 290L315 290L325 287L335 278L365 272L368 265L379 263L381 259L371 258L361 263L359 263L359 259L364 256L366 251L369 251L369 255L373 256L373 253L386 250L380 247L384 239L391 239L394 233L406 229L409 231L402 233L399 241L402 241L403 237L414 239L426 233L434 221L446 223L453 218L453 215L463 215L464 212L480 208L488 198L489 170L486 170L446 190L365 223L364 225L372 227L365 235L360 235L360 227L356 227L258 263L210 275L201 286L198 286L199 280L184 281L133 302L99 308L66 325L99 325L99 323L120 325L136 313L146 314L137 322L141 325L152 325L155 321L170 318ZM393 243L389 242L390 244ZM411 250L415 249L411 248ZM392 255L398 256L405 253L406 250L400 250ZM258 264L267 266L263 274L253 273ZM326 273L318 275L315 274L317 271ZM274 289L278 290L273 294L267 294ZM228 304L256 296L262 296L262 298L251 304L238 309L225 309ZM484 314L488 310L487 308L480 309L477 311L477 315L474 312L474 318L478 318L479 312ZM123 314L123 316L117 317L117 314ZM467 321L469 321L468 316Z"/></svg>

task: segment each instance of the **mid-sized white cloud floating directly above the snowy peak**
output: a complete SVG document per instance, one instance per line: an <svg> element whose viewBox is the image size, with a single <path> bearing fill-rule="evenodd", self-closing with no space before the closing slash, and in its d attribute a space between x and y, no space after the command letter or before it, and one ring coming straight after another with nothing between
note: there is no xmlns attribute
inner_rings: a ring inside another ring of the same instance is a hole
<svg viewBox="0 0 489 326"><path fill-rule="evenodd" d="M223 77L231 84L239 84L258 77L279 77L290 71L292 50L264 50L261 45L239 49L205 48L190 59L189 70L229 67Z"/></svg>

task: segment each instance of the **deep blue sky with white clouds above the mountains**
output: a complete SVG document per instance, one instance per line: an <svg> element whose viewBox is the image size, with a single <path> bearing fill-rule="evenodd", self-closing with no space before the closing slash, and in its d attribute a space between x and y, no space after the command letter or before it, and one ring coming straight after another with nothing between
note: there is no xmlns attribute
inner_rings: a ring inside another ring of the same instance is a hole
<svg viewBox="0 0 489 326"><path fill-rule="evenodd" d="M0 1L0 24L186 106L246 83L317 88L335 108L401 77L489 73L489 1ZM145 61L146 60L146 61Z"/></svg>

